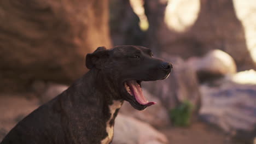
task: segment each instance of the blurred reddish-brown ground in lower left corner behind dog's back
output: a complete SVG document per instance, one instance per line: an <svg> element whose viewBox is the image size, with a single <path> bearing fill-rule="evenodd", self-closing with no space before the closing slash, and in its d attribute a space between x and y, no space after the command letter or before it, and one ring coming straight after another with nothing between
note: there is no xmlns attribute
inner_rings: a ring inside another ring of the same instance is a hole
<svg viewBox="0 0 256 144"><path fill-rule="evenodd" d="M0 141L16 123L39 106L38 99L25 97L26 94L0 95Z"/></svg>

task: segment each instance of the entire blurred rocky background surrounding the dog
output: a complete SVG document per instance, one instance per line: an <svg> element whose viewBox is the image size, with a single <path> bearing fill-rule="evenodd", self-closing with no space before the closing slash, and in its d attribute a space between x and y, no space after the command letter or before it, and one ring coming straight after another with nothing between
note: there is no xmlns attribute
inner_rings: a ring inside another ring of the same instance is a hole
<svg viewBox="0 0 256 144"><path fill-rule="evenodd" d="M114 144L256 143L256 1L1 0L0 141L81 77L98 46L142 45L173 63L125 103Z"/></svg>

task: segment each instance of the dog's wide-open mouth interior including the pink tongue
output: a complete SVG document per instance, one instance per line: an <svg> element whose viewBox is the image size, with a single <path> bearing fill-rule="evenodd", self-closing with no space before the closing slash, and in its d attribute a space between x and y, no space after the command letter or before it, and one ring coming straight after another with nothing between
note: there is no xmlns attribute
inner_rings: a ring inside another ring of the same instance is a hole
<svg viewBox="0 0 256 144"><path fill-rule="evenodd" d="M134 96L136 101L144 106L150 106L156 104L155 102L149 102L143 95L141 89L141 82L136 80L129 80L124 83L126 91Z"/></svg>

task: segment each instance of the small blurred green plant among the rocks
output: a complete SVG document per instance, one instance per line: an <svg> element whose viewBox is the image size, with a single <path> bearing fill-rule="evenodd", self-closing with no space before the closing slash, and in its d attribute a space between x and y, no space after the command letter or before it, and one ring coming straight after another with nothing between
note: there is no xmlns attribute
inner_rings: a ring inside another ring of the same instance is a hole
<svg viewBox="0 0 256 144"><path fill-rule="evenodd" d="M175 126L187 127L193 112L193 104L189 100L183 101L180 105L170 110L170 118Z"/></svg>

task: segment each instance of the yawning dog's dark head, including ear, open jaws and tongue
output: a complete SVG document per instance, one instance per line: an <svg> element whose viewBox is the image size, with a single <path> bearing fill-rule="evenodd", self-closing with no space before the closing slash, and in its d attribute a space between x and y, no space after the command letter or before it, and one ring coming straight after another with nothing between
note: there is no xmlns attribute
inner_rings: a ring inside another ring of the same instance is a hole
<svg viewBox="0 0 256 144"><path fill-rule="evenodd" d="M115 83L119 99L129 101L137 110L155 104L143 96L141 82L166 79L172 69L170 63L154 58L150 49L129 45L109 50L98 47L86 56L86 67L101 70Z"/></svg>

